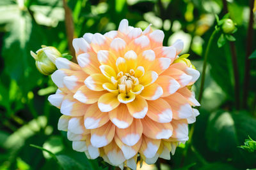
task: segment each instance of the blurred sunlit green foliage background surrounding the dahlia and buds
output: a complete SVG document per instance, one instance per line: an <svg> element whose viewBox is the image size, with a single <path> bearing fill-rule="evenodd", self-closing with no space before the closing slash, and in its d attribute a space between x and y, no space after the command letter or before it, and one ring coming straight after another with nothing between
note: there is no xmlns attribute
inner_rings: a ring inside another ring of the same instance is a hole
<svg viewBox="0 0 256 170"><path fill-rule="evenodd" d="M30 50L47 45L72 54L70 37L103 34L127 18L132 26L145 29L151 23L163 30L164 45L182 39L182 53L189 53L202 73L205 48L216 25L214 15L221 18L227 12L237 24L236 41L221 48L220 34L212 41L200 115L190 127L188 143L180 145L170 161L144 164L142 169L256 168L256 152L237 147L248 135L256 139L256 60L247 59L256 49L252 6L252 0L1 0L0 169L115 169L102 159L88 160L84 153L73 151L67 134L58 131L60 110L47 101L56 86L51 76L37 71ZM244 76L246 69L249 78ZM200 81L193 87L196 97Z"/></svg>

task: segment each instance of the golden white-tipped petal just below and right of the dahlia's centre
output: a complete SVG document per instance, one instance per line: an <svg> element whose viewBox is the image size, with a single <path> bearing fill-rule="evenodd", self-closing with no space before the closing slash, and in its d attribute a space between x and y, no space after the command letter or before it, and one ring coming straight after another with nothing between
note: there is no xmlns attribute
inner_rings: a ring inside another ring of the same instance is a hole
<svg viewBox="0 0 256 170"><path fill-rule="evenodd" d="M127 108L132 117L143 118L148 111L148 104L147 101L143 99L143 97L136 96L136 99L134 99L134 101L132 101L131 103L127 103Z"/></svg>

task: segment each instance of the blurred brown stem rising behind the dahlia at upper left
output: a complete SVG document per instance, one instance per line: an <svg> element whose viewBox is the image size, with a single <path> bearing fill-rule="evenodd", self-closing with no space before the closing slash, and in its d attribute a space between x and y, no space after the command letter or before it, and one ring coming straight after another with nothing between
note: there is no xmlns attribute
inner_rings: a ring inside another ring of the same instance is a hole
<svg viewBox="0 0 256 170"><path fill-rule="evenodd" d="M65 27L66 27L67 40L68 40L68 50L70 51L70 54L73 56L72 61L77 62L76 52L72 45L72 41L74 38L74 24L72 19L72 13L70 8L67 5L67 2L65 0L62 0L62 1L63 1L63 8L65 10Z"/></svg>

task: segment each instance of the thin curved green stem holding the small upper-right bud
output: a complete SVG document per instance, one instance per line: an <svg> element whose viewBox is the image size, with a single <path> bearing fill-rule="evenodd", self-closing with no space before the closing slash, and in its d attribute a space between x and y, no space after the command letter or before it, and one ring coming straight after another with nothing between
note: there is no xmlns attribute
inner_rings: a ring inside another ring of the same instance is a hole
<svg viewBox="0 0 256 170"><path fill-rule="evenodd" d="M204 66L203 66L203 71L202 71L202 79L201 79L201 84L200 84L200 90L199 90L199 97L198 97L198 102L201 102L202 96L203 96L203 92L204 92L204 81L205 81L205 70L206 70L206 66L207 66L207 58L208 58L208 54L209 54L209 50L212 44L212 40L214 39L214 36L218 33L218 30L214 30L211 34L211 37L208 41L206 50L205 50L205 55L204 55Z"/></svg>

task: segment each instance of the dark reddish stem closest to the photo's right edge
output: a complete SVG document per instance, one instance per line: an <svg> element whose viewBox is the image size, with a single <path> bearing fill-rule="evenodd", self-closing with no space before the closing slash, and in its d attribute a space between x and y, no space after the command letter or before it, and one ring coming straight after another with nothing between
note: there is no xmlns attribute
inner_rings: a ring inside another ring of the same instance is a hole
<svg viewBox="0 0 256 170"><path fill-rule="evenodd" d="M243 94L243 108L246 108L249 81L250 81L250 54L252 53L252 41L253 41L253 0L250 0L250 20L247 30L246 38L246 60L245 60L245 71L244 71L244 94Z"/></svg>

